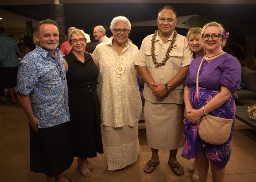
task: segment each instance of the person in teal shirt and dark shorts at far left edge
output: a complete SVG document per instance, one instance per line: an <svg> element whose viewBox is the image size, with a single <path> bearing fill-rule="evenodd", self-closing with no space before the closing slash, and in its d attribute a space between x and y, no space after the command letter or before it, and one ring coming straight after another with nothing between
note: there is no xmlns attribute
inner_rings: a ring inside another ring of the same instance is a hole
<svg viewBox="0 0 256 182"><path fill-rule="evenodd" d="M15 90L17 84L18 73L18 57L19 54L22 58L15 40L4 34L4 27L0 27L0 74L3 88L7 88L11 95L9 103L16 104Z"/></svg>

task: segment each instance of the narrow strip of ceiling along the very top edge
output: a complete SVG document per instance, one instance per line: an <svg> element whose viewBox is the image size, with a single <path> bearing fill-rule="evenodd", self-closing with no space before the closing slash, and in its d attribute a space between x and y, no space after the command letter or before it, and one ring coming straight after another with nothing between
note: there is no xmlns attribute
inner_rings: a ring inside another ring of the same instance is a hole
<svg viewBox="0 0 256 182"><path fill-rule="evenodd" d="M59 0L68 3L204 3L204 4L256 4L256 0ZM53 4L54 0L1 0L0 5Z"/></svg>

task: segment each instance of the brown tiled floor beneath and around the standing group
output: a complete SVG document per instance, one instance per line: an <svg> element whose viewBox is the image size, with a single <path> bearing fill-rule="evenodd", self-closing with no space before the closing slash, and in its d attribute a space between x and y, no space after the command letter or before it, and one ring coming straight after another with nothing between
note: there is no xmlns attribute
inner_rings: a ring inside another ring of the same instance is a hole
<svg viewBox="0 0 256 182"><path fill-rule="evenodd" d="M244 104L253 104L255 100ZM76 159L64 175L78 182L189 182L191 173L185 170L181 177L174 175L167 165L168 151L160 150L160 165L151 174L143 172L144 163L150 159L150 147L147 145L146 131L139 130L140 150L137 161L125 169L110 175L105 172L106 154L89 159L94 164L91 177L83 177L78 169ZM182 157L178 150L178 161L187 169L192 160ZM44 182L43 174L29 170L29 121L19 104L0 105L0 182ZM209 170L208 181L211 182ZM231 158L226 167L225 182L256 181L256 131L236 120Z"/></svg>

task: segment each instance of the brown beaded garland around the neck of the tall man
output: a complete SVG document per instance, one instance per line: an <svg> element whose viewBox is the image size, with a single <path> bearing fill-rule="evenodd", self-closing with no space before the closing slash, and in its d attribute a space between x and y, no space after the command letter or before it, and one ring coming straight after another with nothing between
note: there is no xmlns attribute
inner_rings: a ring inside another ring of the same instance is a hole
<svg viewBox="0 0 256 182"><path fill-rule="evenodd" d="M152 39L151 39L151 43L152 43L152 46L151 46L151 56L152 56L152 59L153 59L153 63L155 64L155 67L158 68L160 66L165 66L165 63L166 61L170 58L170 55L169 53L171 52L171 50L173 49L173 44L175 43L176 41L176 37L177 37L177 31L176 29L174 29L174 32L173 32L173 39L171 40L171 45L170 47L168 48L166 54L165 54L165 58L162 60L161 63L158 63L157 62L157 59L155 58L155 39L157 37L157 32L159 32L159 30L156 30Z"/></svg>

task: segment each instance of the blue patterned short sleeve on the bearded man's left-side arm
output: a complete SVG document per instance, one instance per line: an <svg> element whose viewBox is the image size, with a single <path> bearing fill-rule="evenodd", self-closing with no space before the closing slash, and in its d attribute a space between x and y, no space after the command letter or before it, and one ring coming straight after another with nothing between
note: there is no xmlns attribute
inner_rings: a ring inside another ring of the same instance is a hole
<svg viewBox="0 0 256 182"><path fill-rule="evenodd" d="M17 92L23 95L29 95L34 90L34 86L38 81L38 68L26 58L22 59L19 64L19 71L17 76Z"/></svg>

